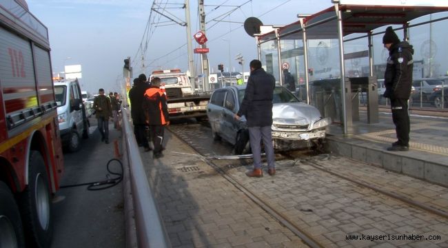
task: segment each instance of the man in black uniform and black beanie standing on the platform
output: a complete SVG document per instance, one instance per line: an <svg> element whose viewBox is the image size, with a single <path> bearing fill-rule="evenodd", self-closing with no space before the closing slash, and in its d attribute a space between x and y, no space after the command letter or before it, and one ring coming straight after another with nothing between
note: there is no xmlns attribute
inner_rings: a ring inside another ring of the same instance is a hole
<svg viewBox="0 0 448 248"><path fill-rule="evenodd" d="M409 150L409 132L411 130L407 102L411 95L414 49L407 41L400 41L391 26L386 29L383 44L389 50L384 75L386 87L384 96L391 101L392 120L398 139L387 150L405 152Z"/></svg>

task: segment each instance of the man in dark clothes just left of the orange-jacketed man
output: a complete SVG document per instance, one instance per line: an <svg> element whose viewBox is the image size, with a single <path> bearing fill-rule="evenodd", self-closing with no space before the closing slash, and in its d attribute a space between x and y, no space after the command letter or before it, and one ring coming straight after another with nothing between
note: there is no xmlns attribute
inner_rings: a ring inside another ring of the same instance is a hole
<svg viewBox="0 0 448 248"><path fill-rule="evenodd" d="M145 128L145 115L143 114L143 99L145 91L150 87L146 83L145 74L139 75L139 80L134 83L135 86L129 91L129 100L131 102L131 117L134 123L134 134L139 146L145 147L145 152L150 151L150 144L147 142Z"/></svg>

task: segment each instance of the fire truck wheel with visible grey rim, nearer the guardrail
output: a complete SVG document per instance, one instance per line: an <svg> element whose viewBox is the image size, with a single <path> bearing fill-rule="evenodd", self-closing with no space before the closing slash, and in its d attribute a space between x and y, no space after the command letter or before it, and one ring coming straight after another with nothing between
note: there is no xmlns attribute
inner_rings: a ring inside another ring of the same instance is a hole
<svg viewBox="0 0 448 248"><path fill-rule="evenodd" d="M40 152L31 151L28 186L21 194L21 214L30 247L50 247L53 227L50 184Z"/></svg>

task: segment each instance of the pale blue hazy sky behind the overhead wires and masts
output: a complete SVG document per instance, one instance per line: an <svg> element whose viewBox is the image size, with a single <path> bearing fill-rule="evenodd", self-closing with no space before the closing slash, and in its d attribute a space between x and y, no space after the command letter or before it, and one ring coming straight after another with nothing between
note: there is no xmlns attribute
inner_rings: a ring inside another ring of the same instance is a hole
<svg viewBox="0 0 448 248"><path fill-rule="evenodd" d="M152 34L150 39L143 37L152 0L28 0L27 3L34 16L48 27L53 72L63 72L64 65L80 64L81 82L89 92L96 93L99 87L118 91L119 84L123 84L123 59L127 56L132 60L134 77L138 76L142 72L139 52L142 41L147 41L145 74L159 68L188 68L187 46L182 46L187 42L185 27L167 23L168 19L153 12ZM166 6L179 22L185 21L185 10L179 4L184 1L157 3ZM200 30L197 3L190 0L192 34ZM285 25L297 21L299 13L313 14L332 6L331 0L205 0L204 3L210 71L215 72L218 63L223 63L226 70L231 63L230 70L241 71L236 54L243 55L245 71L249 70L248 61L256 59L255 40L242 27L248 17L257 17L265 25ZM236 6L241 8L225 17ZM158 27L156 23L160 23ZM194 42L193 48L196 47ZM195 64L200 66L199 56L195 56Z"/></svg>

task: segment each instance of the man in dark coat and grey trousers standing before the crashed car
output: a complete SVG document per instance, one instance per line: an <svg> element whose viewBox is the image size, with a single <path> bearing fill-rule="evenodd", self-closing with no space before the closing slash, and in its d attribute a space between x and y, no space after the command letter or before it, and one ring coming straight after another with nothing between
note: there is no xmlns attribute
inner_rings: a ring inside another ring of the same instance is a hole
<svg viewBox="0 0 448 248"><path fill-rule="evenodd" d="M261 61L250 61L250 76L244 92L243 102L235 118L246 116L249 128L250 147L254 155L254 169L247 176L261 177L261 140L267 157L267 173L275 174L274 147L272 147L272 97L275 79L261 68Z"/></svg>

